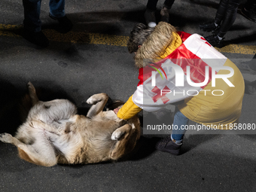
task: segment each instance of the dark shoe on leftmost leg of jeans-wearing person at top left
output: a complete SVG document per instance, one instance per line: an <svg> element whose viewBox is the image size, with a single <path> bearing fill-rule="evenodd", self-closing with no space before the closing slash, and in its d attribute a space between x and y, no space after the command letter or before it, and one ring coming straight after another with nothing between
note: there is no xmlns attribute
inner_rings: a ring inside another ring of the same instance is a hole
<svg viewBox="0 0 256 192"><path fill-rule="evenodd" d="M23 38L32 44L36 44L40 47L47 47L49 45L49 40L44 35L43 32L31 32L29 30L24 30Z"/></svg>

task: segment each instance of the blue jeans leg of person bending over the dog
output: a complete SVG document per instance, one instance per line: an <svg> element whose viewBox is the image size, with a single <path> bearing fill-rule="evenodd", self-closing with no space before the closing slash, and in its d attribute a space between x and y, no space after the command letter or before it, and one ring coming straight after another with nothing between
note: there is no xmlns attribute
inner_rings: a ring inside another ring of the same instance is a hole
<svg viewBox="0 0 256 192"><path fill-rule="evenodd" d="M173 130L171 138L172 140L175 140L176 143L181 143L182 139L184 137L184 134L186 132L185 129L181 129L182 125L187 125L188 118L184 116L184 114L181 113L181 111L178 110L178 108L175 108L175 114L174 114L174 120L173 120ZM177 128L177 129L175 129Z"/></svg>

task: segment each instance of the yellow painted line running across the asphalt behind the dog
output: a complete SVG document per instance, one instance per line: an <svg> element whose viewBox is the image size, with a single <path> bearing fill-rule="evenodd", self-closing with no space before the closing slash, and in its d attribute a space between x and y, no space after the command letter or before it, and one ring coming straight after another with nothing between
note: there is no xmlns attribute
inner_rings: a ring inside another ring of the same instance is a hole
<svg viewBox="0 0 256 192"><path fill-rule="evenodd" d="M20 35L17 35L11 31L20 30L22 28L23 26L0 24L0 35L20 37ZM90 32L68 32L66 34L61 34L53 29L44 29L43 32L50 41L84 44L105 44L120 47L126 47L127 41L129 39L128 36L107 35ZM240 53L251 55L256 53L256 46L253 45L229 44L225 47L216 49L222 53Z"/></svg>

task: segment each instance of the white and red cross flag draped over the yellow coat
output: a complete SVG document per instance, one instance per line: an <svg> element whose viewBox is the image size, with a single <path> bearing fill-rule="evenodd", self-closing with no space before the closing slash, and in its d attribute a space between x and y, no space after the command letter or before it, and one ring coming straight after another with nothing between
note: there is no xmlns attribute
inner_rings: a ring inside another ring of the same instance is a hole
<svg viewBox="0 0 256 192"><path fill-rule="evenodd" d="M140 81L133 102L145 111L157 111L196 96L212 81L212 69L217 74L218 67L227 60L202 36L185 32L178 35L183 41L181 46L165 59L139 69ZM190 74L188 81L187 74Z"/></svg>

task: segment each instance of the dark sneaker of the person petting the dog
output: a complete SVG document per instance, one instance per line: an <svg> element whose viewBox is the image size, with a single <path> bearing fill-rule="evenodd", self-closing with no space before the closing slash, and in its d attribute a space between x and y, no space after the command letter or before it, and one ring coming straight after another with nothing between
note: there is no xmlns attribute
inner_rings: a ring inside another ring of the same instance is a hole
<svg viewBox="0 0 256 192"><path fill-rule="evenodd" d="M181 150L181 145L175 144L175 142L172 142L172 139L170 136L167 136L166 138L161 139L159 142L157 142L156 148L159 151L167 152L169 154L178 155Z"/></svg>

